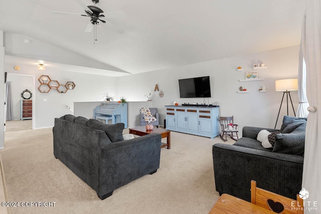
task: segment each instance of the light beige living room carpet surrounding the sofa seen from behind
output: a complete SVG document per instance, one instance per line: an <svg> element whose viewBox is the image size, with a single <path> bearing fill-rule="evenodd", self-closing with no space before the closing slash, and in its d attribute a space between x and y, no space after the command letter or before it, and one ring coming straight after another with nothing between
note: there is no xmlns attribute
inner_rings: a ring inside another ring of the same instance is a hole
<svg viewBox="0 0 321 214"><path fill-rule="evenodd" d="M8 201L56 202L54 207L19 206L8 212L208 213L219 197L212 145L223 141L172 132L171 142L171 149L161 150L156 173L115 189L112 196L100 200L91 187L55 159L51 128L8 132L5 149L0 151Z"/></svg>

